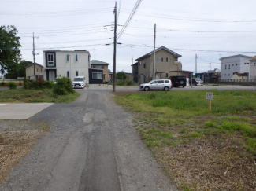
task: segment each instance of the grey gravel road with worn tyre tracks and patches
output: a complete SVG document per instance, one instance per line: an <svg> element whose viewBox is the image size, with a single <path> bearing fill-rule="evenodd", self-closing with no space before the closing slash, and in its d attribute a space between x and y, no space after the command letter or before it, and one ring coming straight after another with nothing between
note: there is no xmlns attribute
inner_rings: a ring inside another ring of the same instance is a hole
<svg viewBox="0 0 256 191"><path fill-rule="evenodd" d="M77 90L29 123L51 126L13 169L2 191L176 190L132 126L132 116L103 90Z"/></svg>

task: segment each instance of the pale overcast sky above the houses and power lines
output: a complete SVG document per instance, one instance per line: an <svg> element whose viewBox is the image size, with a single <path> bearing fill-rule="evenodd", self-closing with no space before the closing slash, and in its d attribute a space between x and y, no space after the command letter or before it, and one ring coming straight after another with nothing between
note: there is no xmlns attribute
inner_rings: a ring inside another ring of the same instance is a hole
<svg viewBox="0 0 256 191"><path fill-rule="evenodd" d="M117 34L137 0L117 0ZM43 64L43 50L88 50L91 60L113 71L113 9L110 0L0 0L0 25L19 31L22 59ZM184 70L221 68L220 57L256 55L254 0L142 0L128 28L117 39L117 72L132 72L132 61L166 46L182 55ZM110 45L107 45L110 44ZM211 63L211 64L210 64Z"/></svg>

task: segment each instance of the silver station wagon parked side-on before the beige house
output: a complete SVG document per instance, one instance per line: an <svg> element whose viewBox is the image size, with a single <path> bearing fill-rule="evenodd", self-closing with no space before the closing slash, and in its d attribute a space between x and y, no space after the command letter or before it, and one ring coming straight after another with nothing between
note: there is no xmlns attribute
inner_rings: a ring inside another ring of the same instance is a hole
<svg viewBox="0 0 256 191"><path fill-rule="evenodd" d="M170 79L155 79L150 81L149 83L140 84L140 90L148 91L148 90L165 90L168 91L172 89L172 81Z"/></svg>

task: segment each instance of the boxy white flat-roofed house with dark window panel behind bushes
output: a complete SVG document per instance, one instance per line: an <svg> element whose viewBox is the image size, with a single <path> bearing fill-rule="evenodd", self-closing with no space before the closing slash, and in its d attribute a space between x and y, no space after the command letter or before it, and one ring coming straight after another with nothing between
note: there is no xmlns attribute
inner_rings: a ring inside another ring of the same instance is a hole
<svg viewBox="0 0 256 191"><path fill-rule="evenodd" d="M90 57L87 50L44 50L45 79L54 80L58 76L74 79L82 75L89 83Z"/></svg>

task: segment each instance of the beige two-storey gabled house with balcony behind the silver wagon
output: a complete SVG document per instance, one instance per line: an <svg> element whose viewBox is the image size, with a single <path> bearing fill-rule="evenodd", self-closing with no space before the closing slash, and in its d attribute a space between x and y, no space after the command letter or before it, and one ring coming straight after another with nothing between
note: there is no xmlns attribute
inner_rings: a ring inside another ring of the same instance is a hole
<svg viewBox="0 0 256 191"><path fill-rule="evenodd" d="M155 73L156 79L169 79L176 73L170 71L181 71L182 64L178 61L180 54L169 50L165 46L155 50ZM138 83L148 83L153 79L154 51L136 59L138 61Z"/></svg>

